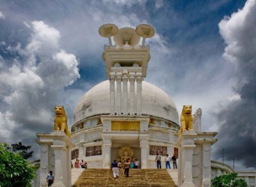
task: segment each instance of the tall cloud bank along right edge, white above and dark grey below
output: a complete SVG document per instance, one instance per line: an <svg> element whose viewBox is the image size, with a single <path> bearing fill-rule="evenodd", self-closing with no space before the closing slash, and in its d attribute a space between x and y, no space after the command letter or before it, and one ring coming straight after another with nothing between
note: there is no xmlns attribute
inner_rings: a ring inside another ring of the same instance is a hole
<svg viewBox="0 0 256 187"><path fill-rule="evenodd" d="M236 66L239 81L237 96L215 108L220 128L214 155L220 159L224 148L225 160L256 169L256 1L247 1L219 27L227 44L224 57Z"/></svg>

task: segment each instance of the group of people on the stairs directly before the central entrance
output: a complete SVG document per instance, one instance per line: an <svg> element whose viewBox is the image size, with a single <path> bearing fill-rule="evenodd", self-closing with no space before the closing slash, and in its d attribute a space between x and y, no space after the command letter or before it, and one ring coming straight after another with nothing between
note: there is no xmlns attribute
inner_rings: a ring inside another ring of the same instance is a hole
<svg viewBox="0 0 256 187"><path fill-rule="evenodd" d="M132 160L127 159L126 162L123 163L123 166L122 166L121 161L116 162L116 160L114 160L113 163L111 164L111 168L110 168L113 171L114 179L117 179L119 177L119 169L122 169L122 168L123 168L125 176L129 177L129 170L131 168L138 169L139 161L137 159L135 159L135 161L133 162Z"/></svg>

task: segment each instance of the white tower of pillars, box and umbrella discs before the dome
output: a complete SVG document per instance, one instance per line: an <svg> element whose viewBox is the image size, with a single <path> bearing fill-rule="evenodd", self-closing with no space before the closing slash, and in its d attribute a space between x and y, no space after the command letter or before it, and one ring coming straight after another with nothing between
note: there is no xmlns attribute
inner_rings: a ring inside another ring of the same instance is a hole
<svg viewBox="0 0 256 187"><path fill-rule="evenodd" d="M141 115L142 80L150 60L150 46L145 45L145 39L155 35L154 28L140 24L136 30L130 27L118 29L114 24L104 24L99 33L109 38L102 59L110 81L110 114ZM112 36L115 45L112 45ZM142 45L139 45L141 37Z"/></svg>

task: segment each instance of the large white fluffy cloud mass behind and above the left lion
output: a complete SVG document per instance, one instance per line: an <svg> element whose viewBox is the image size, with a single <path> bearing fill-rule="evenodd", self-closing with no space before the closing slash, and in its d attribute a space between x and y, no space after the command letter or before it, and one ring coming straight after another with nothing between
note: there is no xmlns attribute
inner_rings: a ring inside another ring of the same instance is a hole
<svg viewBox="0 0 256 187"><path fill-rule="evenodd" d="M28 44L6 49L18 56L11 65L1 58L0 87L9 92L1 92L6 108L0 111L0 126L5 129L0 141L31 139L36 132L52 128L53 106L64 104L64 87L80 78L79 61L61 49L59 41L57 29L34 21Z"/></svg>

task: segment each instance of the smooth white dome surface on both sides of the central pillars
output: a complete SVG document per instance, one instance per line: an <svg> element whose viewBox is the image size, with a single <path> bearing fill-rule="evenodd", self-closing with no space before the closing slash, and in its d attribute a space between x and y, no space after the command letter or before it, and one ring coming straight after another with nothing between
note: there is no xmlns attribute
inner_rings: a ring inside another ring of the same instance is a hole
<svg viewBox="0 0 256 187"><path fill-rule="evenodd" d="M75 108L75 124L86 117L110 113L110 85L105 80L82 97ZM174 101L160 88L142 81L142 114L148 114L179 124Z"/></svg>

